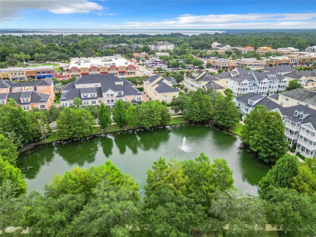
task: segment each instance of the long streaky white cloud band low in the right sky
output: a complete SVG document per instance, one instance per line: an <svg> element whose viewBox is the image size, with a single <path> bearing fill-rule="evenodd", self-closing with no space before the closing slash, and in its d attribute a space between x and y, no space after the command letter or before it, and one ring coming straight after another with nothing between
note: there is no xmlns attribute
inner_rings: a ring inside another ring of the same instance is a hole
<svg viewBox="0 0 316 237"><path fill-rule="evenodd" d="M316 28L316 13L184 14L176 20L125 22L122 28L140 29L310 29Z"/></svg>

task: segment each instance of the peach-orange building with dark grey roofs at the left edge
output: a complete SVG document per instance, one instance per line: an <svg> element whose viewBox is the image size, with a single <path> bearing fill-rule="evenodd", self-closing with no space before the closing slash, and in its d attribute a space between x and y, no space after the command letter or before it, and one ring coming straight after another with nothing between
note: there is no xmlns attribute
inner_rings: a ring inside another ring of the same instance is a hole
<svg viewBox="0 0 316 237"><path fill-rule="evenodd" d="M0 104L6 104L11 98L17 107L29 111L32 108L47 110L54 103L53 80L38 79L34 82L15 83L4 79L0 81Z"/></svg>

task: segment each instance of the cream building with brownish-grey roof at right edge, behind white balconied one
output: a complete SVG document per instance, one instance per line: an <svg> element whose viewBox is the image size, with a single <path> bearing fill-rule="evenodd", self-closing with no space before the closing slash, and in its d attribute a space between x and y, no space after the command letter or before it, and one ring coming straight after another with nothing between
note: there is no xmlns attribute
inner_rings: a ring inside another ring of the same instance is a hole
<svg viewBox="0 0 316 237"><path fill-rule="evenodd" d="M269 98L282 107L304 105L316 110L316 91L298 88L275 95L269 95Z"/></svg>

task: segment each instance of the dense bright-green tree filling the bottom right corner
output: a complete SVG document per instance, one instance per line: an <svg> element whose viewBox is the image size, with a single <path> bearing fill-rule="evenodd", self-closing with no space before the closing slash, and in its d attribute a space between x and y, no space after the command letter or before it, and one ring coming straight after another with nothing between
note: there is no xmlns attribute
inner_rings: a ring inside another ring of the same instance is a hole
<svg viewBox="0 0 316 237"><path fill-rule="evenodd" d="M316 235L316 204L311 197L282 188L272 190L269 195L269 223L293 237Z"/></svg>

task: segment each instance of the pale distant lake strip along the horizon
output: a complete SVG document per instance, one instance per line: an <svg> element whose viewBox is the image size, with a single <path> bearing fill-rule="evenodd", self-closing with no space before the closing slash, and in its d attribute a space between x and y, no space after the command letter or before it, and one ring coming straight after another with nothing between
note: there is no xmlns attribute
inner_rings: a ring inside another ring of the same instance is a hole
<svg viewBox="0 0 316 237"><path fill-rule="evenodd" d="M12 31L12 33L10 32ZM65 30L1 30L1 35L13 35L13 36L22 36L22 35L166 35L171 33L181 33L184 35L192 36L199 34L215 34L215 33L225 33L225 31L215 31L215 30L102 30L102 29L65 29Z"/></svg>

